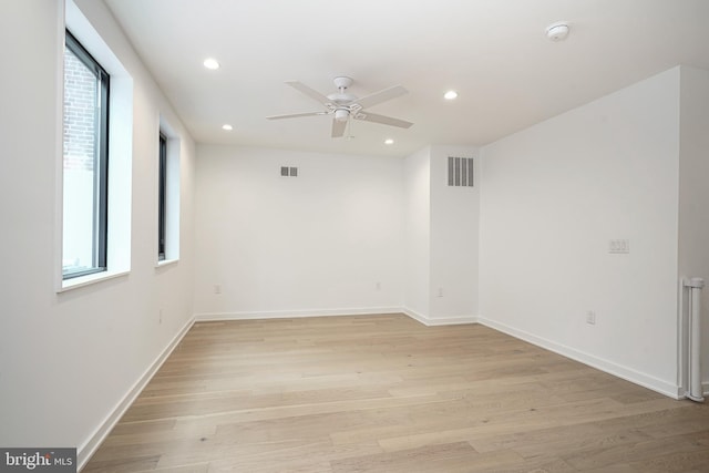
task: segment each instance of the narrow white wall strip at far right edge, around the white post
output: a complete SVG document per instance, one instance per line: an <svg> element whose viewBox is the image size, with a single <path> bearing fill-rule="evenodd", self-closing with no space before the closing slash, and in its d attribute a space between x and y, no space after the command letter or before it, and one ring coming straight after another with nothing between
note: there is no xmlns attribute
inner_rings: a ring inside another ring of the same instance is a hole
<svg viewBox="0 0 709 473"><path fill-rule="evenodd" d="M709 72L682 66L679 276L709 284ZM702 291L702 380L709 384L709 288Z"/></svg>

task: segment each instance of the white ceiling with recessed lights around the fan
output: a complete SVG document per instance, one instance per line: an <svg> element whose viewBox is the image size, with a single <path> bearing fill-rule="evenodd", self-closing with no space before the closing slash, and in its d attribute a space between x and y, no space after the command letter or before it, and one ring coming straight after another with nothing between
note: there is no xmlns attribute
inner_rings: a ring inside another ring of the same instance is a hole
<svg viewBox="0 0 709 473"><path fill-rule="evenodd" d="M105 2L199 143L393 156L483 145L677 64L709 70L707 0ZM571 33L551 42L558 20ZM337 75L358 96L403 85L371 112L414 125L357 121L347 140L330 137L330 116L266 120L321 110L285 81L328 94Z"/></svg>

